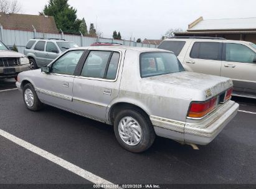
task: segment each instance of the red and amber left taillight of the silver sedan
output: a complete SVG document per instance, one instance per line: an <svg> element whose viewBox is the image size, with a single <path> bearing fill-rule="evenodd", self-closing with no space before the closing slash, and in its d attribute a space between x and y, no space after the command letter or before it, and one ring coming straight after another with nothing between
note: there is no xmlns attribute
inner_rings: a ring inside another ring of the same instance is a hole
<svg viewBox="0 0 256 189"><path fill-rule="evenodd" d="M192 102L188 116L190 118L202 118L213 109L216 108L217 97L214 97L206 102Z"/></svg>

